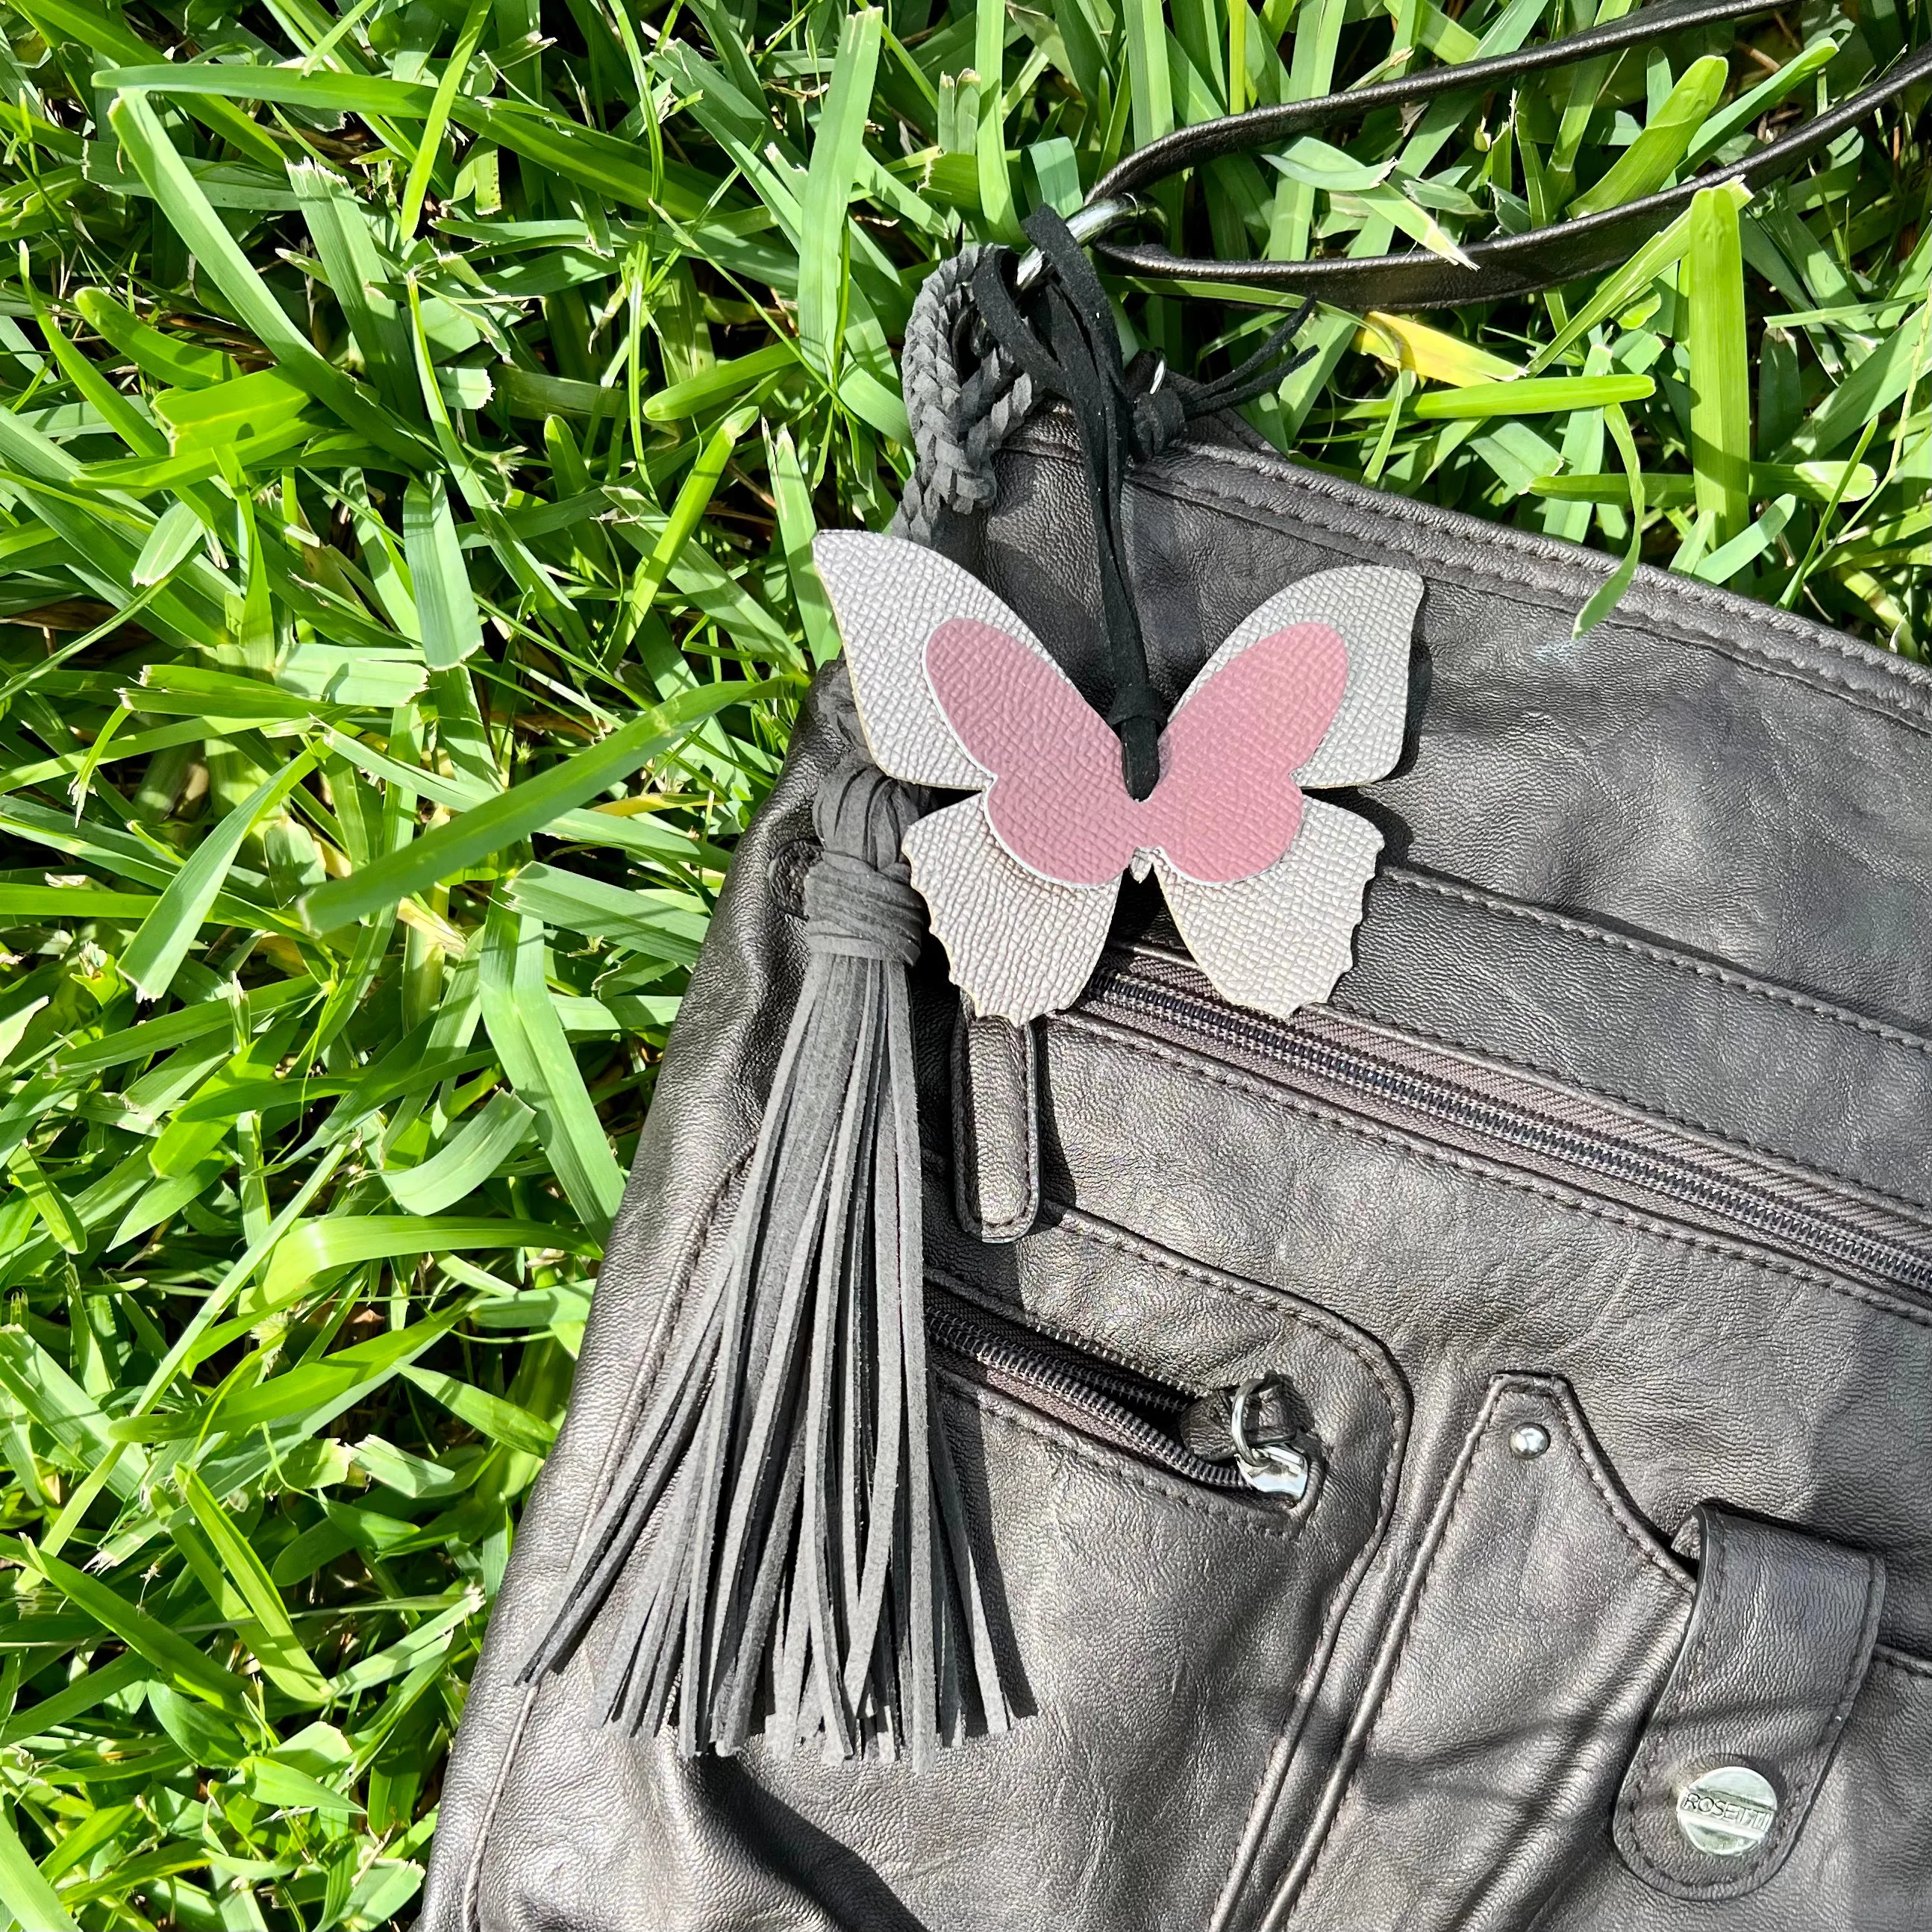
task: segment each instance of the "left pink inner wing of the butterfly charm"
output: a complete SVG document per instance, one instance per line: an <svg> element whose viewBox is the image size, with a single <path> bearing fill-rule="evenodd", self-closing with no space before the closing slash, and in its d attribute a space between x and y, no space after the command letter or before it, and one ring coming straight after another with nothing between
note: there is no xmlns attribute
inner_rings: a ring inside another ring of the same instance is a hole
<svg viewBox="0 0 1932 1932"><path fill-rule="evenodd" d="M985 810L999 842L1061 885L1107 885L1134 856L1121 746L1066 676L1018 638L949 618L925 645L947 723L991 773Z"/></svg>

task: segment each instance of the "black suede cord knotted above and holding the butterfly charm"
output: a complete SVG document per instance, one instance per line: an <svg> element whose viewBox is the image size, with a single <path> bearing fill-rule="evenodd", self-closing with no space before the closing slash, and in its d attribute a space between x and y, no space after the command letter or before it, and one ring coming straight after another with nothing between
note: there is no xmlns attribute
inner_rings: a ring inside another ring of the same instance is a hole
<svg viewBox="0 0 1932 1932"><path fill-rule="evenodd" d="M1308 317L1304 303L1240 367L1215 383L1192 383L1165 365L1146 365L1130 381L1121 336L1099 276L1053 209L1026 218L1045 272L1028 296L1032 313L1009 288L1012 255L987 249L974 269L972 294L993 340L1032 379L1036 396L1068 406L1080 439L1088 506L1099 553L1101 618L1113 694L1107 723L1121 738L1121 777L1128 796L1146 798L1161 777L1161 726L1167 707L1148 672L1148 643L1134 603L1126 556L1122 498L1132 460L1157 456L1194 415L1231 410L1281 383L1302 357L1287 346ZM1136 375L1142 359L1136 357Z"/></svg>

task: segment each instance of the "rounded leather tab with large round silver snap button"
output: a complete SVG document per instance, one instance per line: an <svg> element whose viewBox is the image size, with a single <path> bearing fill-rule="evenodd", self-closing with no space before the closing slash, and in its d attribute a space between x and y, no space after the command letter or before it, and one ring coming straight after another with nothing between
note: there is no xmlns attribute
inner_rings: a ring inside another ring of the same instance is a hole
<svg viewBox="0 0 1932 1932"><path fill-rule="evenodd" d="M1789 1855L1878 1636L1884 1565L1704 1503L1683 1648L1617 1799L1623 1862L1673 1899L1731 1899Z"/></svg>

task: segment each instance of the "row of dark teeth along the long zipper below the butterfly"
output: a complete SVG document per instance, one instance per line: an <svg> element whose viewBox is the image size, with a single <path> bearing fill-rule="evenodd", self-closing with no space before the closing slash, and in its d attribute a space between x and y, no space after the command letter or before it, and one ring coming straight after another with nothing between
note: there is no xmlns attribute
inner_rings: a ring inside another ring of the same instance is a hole
<svg viewBox="0 0 1932 1932"><path fill-rule="evenodd" d="M1157 968L1155 968L1157 970ZM1151 1014L1196 1036L1260 1053L1279 1066L1312 1074L1341 1090L1393 1101L1403 1111L1476 1132L1488 1140L1542 1153L1598 1179L1621 1180L1683 1208L1702 1209L1731 1227L1760 1235L1783 1250L1797 1250L1839 1267L1853 1267L1891 1283L1932 1289L1932 1254L1905 1240L1888 1240L1851 1227L1814 1208L1779 1198L1772 1184L1754 1186L1700 1169L1692 1155L1673 1159L1631 1148L1611 1134L1596 1134L1571 1121L1536 1115L1526 1107L1470 1092L1445 1076L1397 1066L1358 1047L1339 1045L1306 1032L1289 1032L1248 1020L1221 1001L1167 981L1136 978L1140 962L1107 980L1092 997L1099 1012Z"/></svg>

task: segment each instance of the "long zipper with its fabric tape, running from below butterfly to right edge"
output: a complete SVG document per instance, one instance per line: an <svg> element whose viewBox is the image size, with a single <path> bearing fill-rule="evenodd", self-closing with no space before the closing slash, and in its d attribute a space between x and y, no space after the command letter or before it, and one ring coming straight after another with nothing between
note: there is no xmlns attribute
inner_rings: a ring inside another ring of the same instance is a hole
<svg viewBox="0 0 1932 1932"><path fill-rule="evenodd" d="M1076 1012L1209 1047L1312 1097L1468 1151L1501 1150L1588 1192L1932 1293L1932 1223L1886 1202L1327 1009L1269 1020L1169 954L1109 954Z"/></svg>

